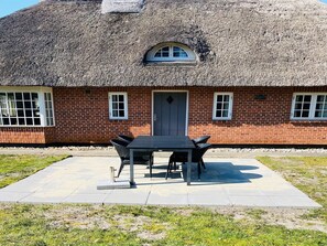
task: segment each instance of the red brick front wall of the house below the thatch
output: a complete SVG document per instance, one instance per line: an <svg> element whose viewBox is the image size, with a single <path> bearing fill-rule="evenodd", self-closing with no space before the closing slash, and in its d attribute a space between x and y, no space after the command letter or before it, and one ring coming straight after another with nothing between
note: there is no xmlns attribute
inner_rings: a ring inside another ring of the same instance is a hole
<svg viewBox="0 0 327 246"><path fill-rule="evenodd" d="M55 127L2 127L0 143L108 143L117 133L151 135L153 89L188 90L192 138L210 135L210 142L220 145L327 145L327 121L290 120L293 93L326 93L327 86L53 88ZM109 92L128 93L128 120L109 120ZM233 93L232 120L212 120L215 92Z"/></svg>

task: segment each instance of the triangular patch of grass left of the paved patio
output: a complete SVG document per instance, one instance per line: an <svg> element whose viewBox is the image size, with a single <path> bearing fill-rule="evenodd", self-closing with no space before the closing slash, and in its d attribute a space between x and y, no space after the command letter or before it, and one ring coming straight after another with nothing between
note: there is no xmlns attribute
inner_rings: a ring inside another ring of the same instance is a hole
<svg viewBox="0 0 327 246"><path fill-rule="evenodd" d="M0 154L0 189L65 158L67 156Z"/></svg>

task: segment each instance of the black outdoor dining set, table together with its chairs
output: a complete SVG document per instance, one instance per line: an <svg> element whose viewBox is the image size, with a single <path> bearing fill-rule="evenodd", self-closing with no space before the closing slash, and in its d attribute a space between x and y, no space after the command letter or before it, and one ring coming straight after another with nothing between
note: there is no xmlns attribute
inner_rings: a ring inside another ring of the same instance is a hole
<svg viewBox="0 0 327 246"><path fill-rule="evenodd" d="M139 136L132 138L119 135L118 139L110 142L117 150L121 164L118 171L120 175L126 164L130 165L130 182L134 184L134 164L146 163L152 178L153 152L154 151L173 151L170 157L166 177L176 170L177 162L187 163L187 185L190 184L190 162L197 163L198 179L200 179L201 167L205 168L203 156L211 147L206 143L210 136L201 136L196 139L189 139L187 136Z"/></svg>

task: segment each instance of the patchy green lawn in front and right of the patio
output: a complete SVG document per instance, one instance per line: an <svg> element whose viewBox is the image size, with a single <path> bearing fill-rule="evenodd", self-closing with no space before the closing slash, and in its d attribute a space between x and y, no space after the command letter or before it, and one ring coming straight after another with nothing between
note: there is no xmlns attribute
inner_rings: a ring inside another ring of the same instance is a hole
<svg viewBox="0 0 327 246"><path fill-rule="evenodd" d="M6 159L2 158L1 160ZM324 205L324 208L308 212L237 207L0 203L0 245L327 245L327 159L259 159L305 191ZM2 162L0 164L2 167ZM8 167L8 170L11 169ZM292 211L296 212L293 214ZM279 220L287 227L279 225ZM290 223L293 223L293 228ZM312 226L313 223L317 224ZM317 231L316 225L321 225L319 223L323 223L323 227L319 227L323 232Z"/></svg>

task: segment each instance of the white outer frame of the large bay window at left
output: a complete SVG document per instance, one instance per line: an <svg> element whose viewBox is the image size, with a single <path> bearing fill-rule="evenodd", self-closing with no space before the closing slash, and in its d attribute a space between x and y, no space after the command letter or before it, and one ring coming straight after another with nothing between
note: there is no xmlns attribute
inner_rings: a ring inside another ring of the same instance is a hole
<svg viewBox="0 0 327 246"><path fill-rule="evenodd" d="M53 98L53 92L51 87L28 87L28 86L0 86L0 93L35 93L37 94L39 99L39 110L40 110L40 125L0 125L0 127L54 127L55 126L55 116L54 116L54 98ZM52 103L52 118L53 118L53 125L47 126L46 125L46 107L45 107L45 100L44 100L44 94L50 93L51 94L51 103ZM26 118L24 116L24 118Z"/></svg>

